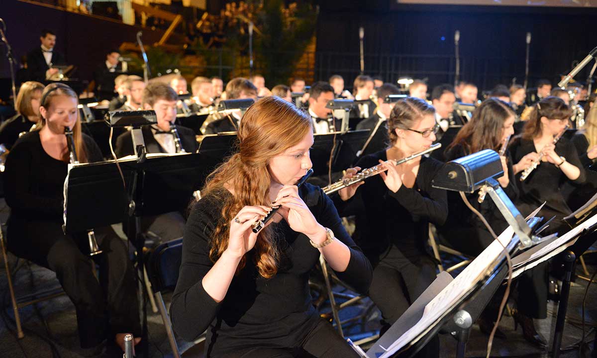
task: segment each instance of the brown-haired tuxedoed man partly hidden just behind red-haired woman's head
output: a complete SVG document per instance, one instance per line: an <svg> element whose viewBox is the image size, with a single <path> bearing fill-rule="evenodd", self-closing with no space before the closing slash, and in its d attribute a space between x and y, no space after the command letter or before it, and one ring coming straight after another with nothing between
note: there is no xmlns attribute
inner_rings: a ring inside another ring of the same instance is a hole
<svg viewBox="0 0 597 358"><path fill-rule="evenodd" d="M226 99L245 99L253 98L257 100L257 87L246 78L233 78L226 84ZM241 124L241 112L236 111L222 115L221 113L212 113L207 116L205 122L201 125L203 134L217 134L222 132L236 132Z"/></svg>

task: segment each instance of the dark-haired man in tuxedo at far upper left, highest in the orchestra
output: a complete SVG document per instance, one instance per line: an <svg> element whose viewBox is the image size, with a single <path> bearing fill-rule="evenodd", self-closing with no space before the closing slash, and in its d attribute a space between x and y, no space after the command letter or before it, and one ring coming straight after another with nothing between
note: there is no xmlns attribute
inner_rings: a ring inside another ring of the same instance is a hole
<svg viewBox="0 0 597 358"><path fill-rule="evenodd" d="M56 45L56 34L54 32L47 29L42 30L39 41L41 46L27 55L27 69L29 70L30 81L45 81L59 71L50 67L66 64L64 55L54 51L54 45Z"/></svg>

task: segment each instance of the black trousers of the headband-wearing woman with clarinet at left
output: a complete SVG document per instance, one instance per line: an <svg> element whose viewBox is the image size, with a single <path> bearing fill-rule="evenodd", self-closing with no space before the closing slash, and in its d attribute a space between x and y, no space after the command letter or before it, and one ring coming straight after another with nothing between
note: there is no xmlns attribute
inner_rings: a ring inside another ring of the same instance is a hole
<svg viewBox="0 0 597 358"><path fill-rule="evenodd" d="M8 250L56 272L75 305L79 340L91 348L116 333L141 335L133 264L127 247L111 227L95 230L103 253L94 255L99 281L93 274L87 233L69 235L54 221L8 221Z"/></svg>

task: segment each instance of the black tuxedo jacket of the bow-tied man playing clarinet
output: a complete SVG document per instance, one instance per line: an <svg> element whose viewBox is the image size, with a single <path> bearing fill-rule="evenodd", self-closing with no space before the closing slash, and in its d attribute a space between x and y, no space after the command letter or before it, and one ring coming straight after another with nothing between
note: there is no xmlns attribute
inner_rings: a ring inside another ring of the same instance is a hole
<svg viewBox="0 0 597 358"><path fill-rule="evenodd" d="M177 125L176 129L179 132L181 146L187 153L195 153L198 149L195 132L192 129ZM166 153L166 150L153 137L153 132L150 125L141 126L143 133L143 140L145 141L146 153ZM122 158L127 155L134 155L133 137L131 131L122 133L116 138L116 157Z"/></svg>

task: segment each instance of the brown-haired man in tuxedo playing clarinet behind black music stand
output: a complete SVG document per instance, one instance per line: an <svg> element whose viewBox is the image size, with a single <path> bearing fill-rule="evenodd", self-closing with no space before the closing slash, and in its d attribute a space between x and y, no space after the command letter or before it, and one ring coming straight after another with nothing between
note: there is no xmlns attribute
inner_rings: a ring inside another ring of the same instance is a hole
<svg viewBox="0 0 597 358"><path fill-rule="evenodd" d="M155 110L158 124L141 126L143 141L147 153L176 153L174 135L171 128L176 127L179 132L181 146L187 153L195 153L198 149L195 132L192 129L174 125L176 121L176 102L179 96L174 89L162 82L150 82L143 90L143 108ZM134 154L133 137L131 132L126 132L116 139L116 156ZM182 237L184 218L180 211L141 218L141 231L156 234L161 242ZM123 228L126 230L126 228ZM125 231L126 232L126 231Z"/></svg>

